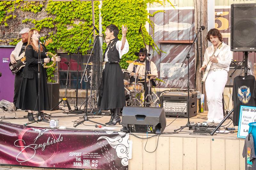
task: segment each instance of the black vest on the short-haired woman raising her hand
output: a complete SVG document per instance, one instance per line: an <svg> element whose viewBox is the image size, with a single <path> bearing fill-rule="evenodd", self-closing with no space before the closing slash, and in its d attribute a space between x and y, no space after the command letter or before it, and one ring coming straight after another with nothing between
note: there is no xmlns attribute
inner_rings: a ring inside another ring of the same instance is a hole
<svg viewBox="0 0 256 170"><path fill-rule="evenodd" d="M119 39L116 37L111 44L108 44L108 47L106 48L105 52L104 52L104 58L105 58L105 54L108 50L108 62L119 62L120 61L120 56L119 56L119 52L118 50L116 50L116 42Z"/></svg>

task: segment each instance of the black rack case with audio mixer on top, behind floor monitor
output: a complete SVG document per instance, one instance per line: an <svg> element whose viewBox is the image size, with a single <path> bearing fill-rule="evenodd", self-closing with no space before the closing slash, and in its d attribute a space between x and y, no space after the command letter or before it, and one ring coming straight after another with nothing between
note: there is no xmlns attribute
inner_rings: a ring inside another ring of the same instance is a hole
<svg viewBox="0 0 256 170"><path fill-rule="evenodd" d="M179 116L188 118L187 111L188 92L185 89L174 89L165 93L161 98L161 106L164 108L165 116ZM189 117L196 116L197 92L189 93Z"/></svg>

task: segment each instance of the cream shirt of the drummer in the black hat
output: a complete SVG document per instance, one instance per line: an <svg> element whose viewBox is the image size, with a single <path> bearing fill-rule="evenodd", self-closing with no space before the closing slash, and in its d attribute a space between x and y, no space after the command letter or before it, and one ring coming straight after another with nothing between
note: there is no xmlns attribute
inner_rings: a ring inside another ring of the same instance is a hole
<svg viewBox="0 0 256 170"><path fill-rule="evenodd" d="M145 76L142 76L142 75L145 75L146 60L143 62L143 64L145 65L144 66L138 65L136 68L136 73L138 73L141 79L145 79ZM134 66L133 64L129 64L127 70L132 72L133 66ZM158 77L156 65L152 61L150 62L150 74L156 75L156 76L150 77L150 79L156 79Z"/></svg>

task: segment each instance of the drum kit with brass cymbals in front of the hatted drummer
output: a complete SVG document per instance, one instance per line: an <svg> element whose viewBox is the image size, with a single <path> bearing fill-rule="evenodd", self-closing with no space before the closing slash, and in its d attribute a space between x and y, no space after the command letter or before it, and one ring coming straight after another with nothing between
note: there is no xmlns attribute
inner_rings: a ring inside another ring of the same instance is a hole
<svg viewBox="0 0 256 170"><path fill-rule="evenodd" d="M145 65L143 63L136 62L136 61L130 61L130 60L128 60L126 62L129 64L133 64L133 65L141 65L141 66ZM86 64L84 64L84 65L86 65ZM88 65L92 66L92 62L88 63ZM123 72L123 79L124 79L124 95L125 95L125 100L126 100L126 106L143 107L143 101L140 99L140 95L144 91L144 81L141 81L141 79L144 79L144 77L141 77L137 74L132 75L131 71L128 71L125 69L122 69L122 72ZM90 70L88 78L90 78L91 76L92 76L92 70ZM130 82L130 78L132 76L135 78L134 82ZM144 75L142 75L142 76L144 76ZM147 76L149 78L151 76L156 76L156 75L147 74ZM138 81L138 80L140 80L140 81ZM92 81L90 81L90 85L91 85L90 86L90 96L88 96L88 111L92 112L93 109L97 108L97 96L96 96L94 90L92 90ZM150 81L148 81L147 86L150 87ZM150 88L148 88L148 89L150 89ZM150 95L149 92L148 92L146 99L147 98L148 98L148 102L146 104L148 104L151 107L155 107L152 96ZM83 102L83 104L85 103L85 101ZM82 105L80 106L79 109L81 109Z"/></svg>

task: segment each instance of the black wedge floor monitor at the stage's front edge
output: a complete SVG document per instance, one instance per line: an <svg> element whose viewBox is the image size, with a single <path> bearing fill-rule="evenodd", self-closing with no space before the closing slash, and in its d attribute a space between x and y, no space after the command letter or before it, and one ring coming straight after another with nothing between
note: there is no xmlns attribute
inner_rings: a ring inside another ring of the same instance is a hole
<svg viewBox="0 0 256 170"><path fill-rule="evenodd" d="M166 127L164 109L124 106L122 125L124 132L163 133Z"/></svg>

